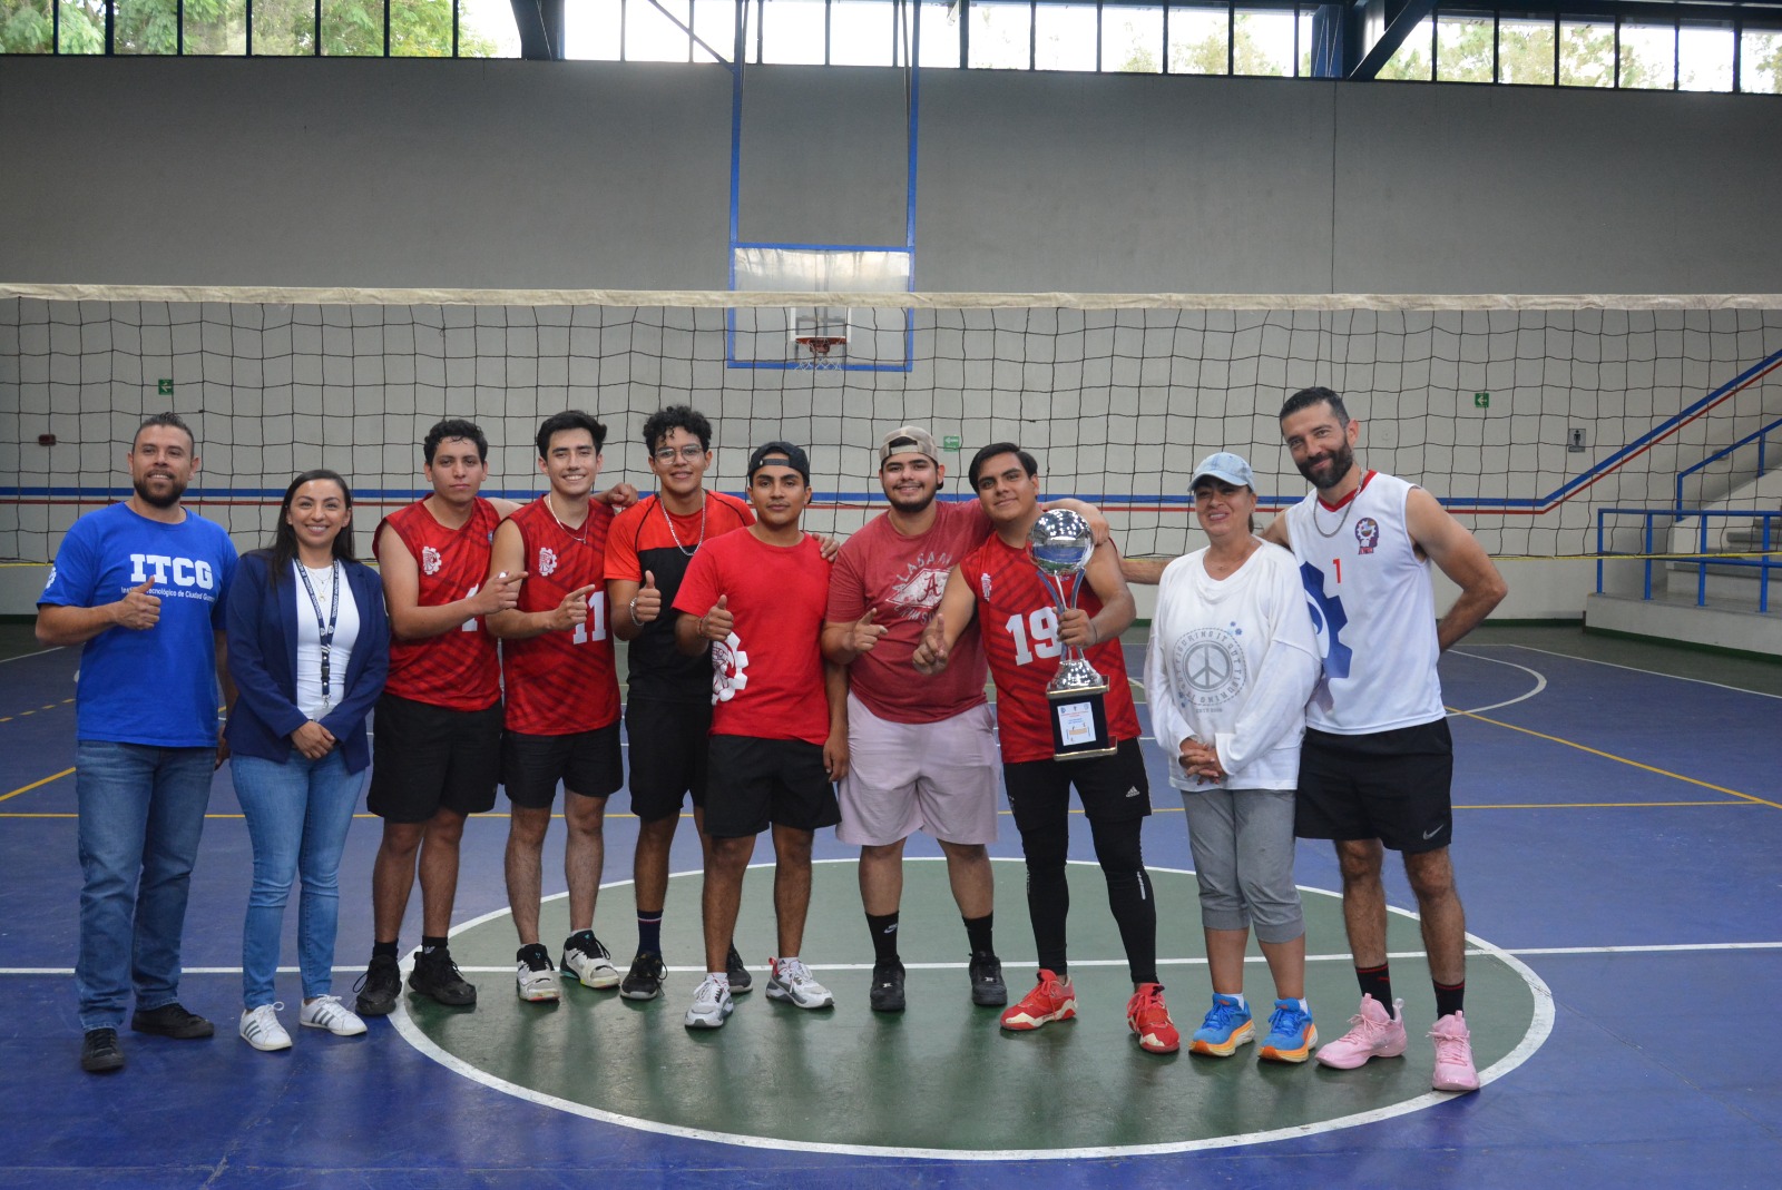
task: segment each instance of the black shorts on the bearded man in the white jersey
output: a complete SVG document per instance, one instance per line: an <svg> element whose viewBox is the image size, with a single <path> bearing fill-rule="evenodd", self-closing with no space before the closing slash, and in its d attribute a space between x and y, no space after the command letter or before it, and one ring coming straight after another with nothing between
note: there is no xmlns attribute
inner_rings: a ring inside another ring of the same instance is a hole
<svg viewBox="0 0 1782 1190"><path fill-rule="evenodd" d="M1306 729L1294 834L1436 852L1454 841L1452 782L1454 738L1445 718L1369 736Z"/></svg>

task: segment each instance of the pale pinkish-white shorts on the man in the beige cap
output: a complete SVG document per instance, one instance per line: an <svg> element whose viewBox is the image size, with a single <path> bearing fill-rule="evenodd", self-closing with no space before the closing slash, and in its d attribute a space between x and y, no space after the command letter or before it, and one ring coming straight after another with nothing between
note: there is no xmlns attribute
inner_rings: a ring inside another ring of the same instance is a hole
<svg viewBox="0 0 1782 1190"><path fill-rule="evenodd" d="M886 846L923 830L946 843L996 841L1001 755L989 704L937 723L893 723L848 695L848 775L836 837Z"/></svg>

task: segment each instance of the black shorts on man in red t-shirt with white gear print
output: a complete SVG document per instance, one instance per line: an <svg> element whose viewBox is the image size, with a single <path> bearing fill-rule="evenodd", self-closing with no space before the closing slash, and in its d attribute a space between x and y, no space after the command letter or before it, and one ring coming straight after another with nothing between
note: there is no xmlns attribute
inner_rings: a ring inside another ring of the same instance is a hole
<svg viewBox="0 0 1782 1190"><path fill-rule="evenodd" d="M706 834L741 839L773 827L818 830L841 821L823 746L804 739L711 736Z"/></svg>

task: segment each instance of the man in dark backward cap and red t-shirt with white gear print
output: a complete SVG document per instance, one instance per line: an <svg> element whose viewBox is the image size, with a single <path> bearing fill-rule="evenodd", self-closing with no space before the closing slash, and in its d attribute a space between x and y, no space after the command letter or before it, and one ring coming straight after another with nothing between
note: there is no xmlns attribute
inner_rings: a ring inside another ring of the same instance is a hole
<svg viewBox="0 0 1782 1190"><path fill-rule="evenodd" d="M830 784L848 771L846 673L820 650L829 570L798 527L811 502L811 461L789 442L748 456L756 524L707 542L675 595L675 643L711 652L711 789L706 800L706 980L688 1028L731 1015L727 950L756 835L773 828L779 957L768 999L829 1008L834 996L800 958L811 907L811 843L841 818Z"/></svg>

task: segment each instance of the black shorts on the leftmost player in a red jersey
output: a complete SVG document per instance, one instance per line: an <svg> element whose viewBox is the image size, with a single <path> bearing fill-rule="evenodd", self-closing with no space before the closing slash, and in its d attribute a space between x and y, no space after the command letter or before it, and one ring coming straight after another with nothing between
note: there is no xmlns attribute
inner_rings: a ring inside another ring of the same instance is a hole
<svg viewBox="0 0 1782 1190"><path fill-rule="evenodd" d="M453 711L385 693L371 736L365 805L392 823L424 823L446 809L486 814L501 784L501 704Z"/></svg>

